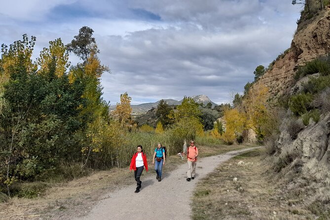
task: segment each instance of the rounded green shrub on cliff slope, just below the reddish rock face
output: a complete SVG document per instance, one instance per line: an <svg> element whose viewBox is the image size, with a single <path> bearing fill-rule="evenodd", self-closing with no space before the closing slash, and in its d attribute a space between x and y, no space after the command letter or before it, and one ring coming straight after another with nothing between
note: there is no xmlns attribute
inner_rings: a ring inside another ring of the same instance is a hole
<svg viewBox="0 0 330 220"><path fill-rule="evenodd" d="M291 97L289 108L295 115L302 115L311 109L313 96L310 93L297 94Z"/></svg>

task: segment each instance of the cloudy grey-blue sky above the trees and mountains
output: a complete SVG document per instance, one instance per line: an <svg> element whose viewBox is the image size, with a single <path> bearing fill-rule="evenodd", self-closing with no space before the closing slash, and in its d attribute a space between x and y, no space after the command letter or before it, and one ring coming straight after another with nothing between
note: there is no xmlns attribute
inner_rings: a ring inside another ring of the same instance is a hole
<svg viewBox="0 0 330 220"><path fill-rule="evenodd" d="M231 101L290 47L299 6L291 0L0 0L0 43L36 36L34 57L50 40L67 44L94 30L109 66L104 99L115 105L205 94ZM72 64L79 62L73 54Z"/></svg>

